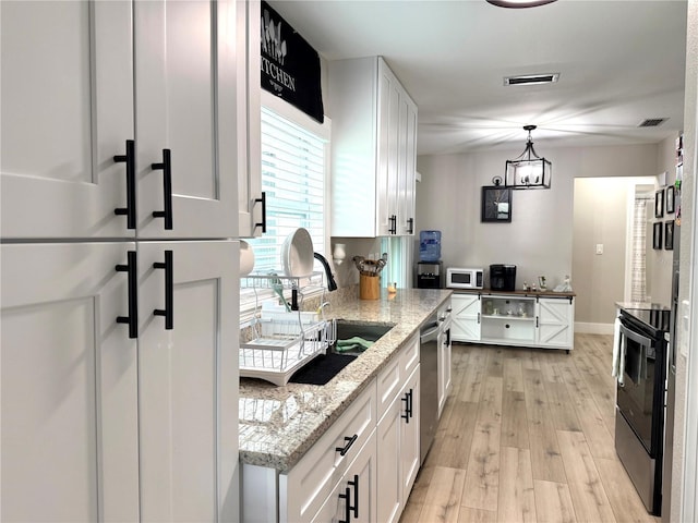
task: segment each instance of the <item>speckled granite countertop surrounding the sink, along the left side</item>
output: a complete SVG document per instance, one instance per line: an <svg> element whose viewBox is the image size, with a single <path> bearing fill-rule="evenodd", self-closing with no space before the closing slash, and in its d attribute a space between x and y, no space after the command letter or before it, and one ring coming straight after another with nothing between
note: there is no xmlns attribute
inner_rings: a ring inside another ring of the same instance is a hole
<svg viewBox="0 0 698 523"><path fill-rule="evenodd" d="M240 461L288 472L450 294L398 289L395 295L383 290L378 300L333 301L326 308L329 317L395 327L327 385L277 387L240 378Z"/></svg>

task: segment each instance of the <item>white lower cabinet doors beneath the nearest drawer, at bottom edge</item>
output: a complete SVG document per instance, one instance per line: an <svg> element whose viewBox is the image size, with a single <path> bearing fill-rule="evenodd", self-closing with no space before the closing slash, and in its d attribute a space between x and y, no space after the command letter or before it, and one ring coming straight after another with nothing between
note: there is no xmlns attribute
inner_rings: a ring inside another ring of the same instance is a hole
<svg viewBox="0 0 698 523"><path fill-rule="evenodd" d="M376 519L376 473L375 433L373 433L313 521L383 523L385 520Z"/></svg>

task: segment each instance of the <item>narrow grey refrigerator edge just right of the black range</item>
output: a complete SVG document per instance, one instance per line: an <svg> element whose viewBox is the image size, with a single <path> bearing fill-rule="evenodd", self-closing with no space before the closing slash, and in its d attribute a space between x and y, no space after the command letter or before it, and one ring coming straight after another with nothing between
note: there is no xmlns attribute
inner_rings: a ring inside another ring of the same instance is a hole
<svg viewBox="0 0 698 523"><path fill-rule="evenodd" d="M672 462L674 461L674 400L676 396L676 323L678 319L678 254L679 230L674 226L674 256L672 266L672 319L669 331L666 362L666 414L664 421L664 462L662 469L662 522L671 522Z"/></svg>

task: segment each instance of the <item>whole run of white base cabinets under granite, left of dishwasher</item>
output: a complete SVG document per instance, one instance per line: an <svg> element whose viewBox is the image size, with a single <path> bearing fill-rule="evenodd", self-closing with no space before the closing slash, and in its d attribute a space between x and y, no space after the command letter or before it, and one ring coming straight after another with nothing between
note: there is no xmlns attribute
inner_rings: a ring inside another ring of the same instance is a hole
<svg viewBox="0 0 698 523"><path fill-rule="evenodd" d="M288 473L243 465L244 522L398 521L420 465L419 337Z"/></svg>

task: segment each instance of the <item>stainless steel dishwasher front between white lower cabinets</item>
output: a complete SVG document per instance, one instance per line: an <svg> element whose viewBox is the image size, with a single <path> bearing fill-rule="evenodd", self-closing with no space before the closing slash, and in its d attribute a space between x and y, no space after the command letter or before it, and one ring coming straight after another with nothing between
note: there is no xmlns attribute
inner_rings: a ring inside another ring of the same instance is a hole
<svg viewBox="0 0 698 523"><path fill-rule="evenodd" d="M436 314L420 330L420 463L424 463L438 425L438 331Z"/></svg>

